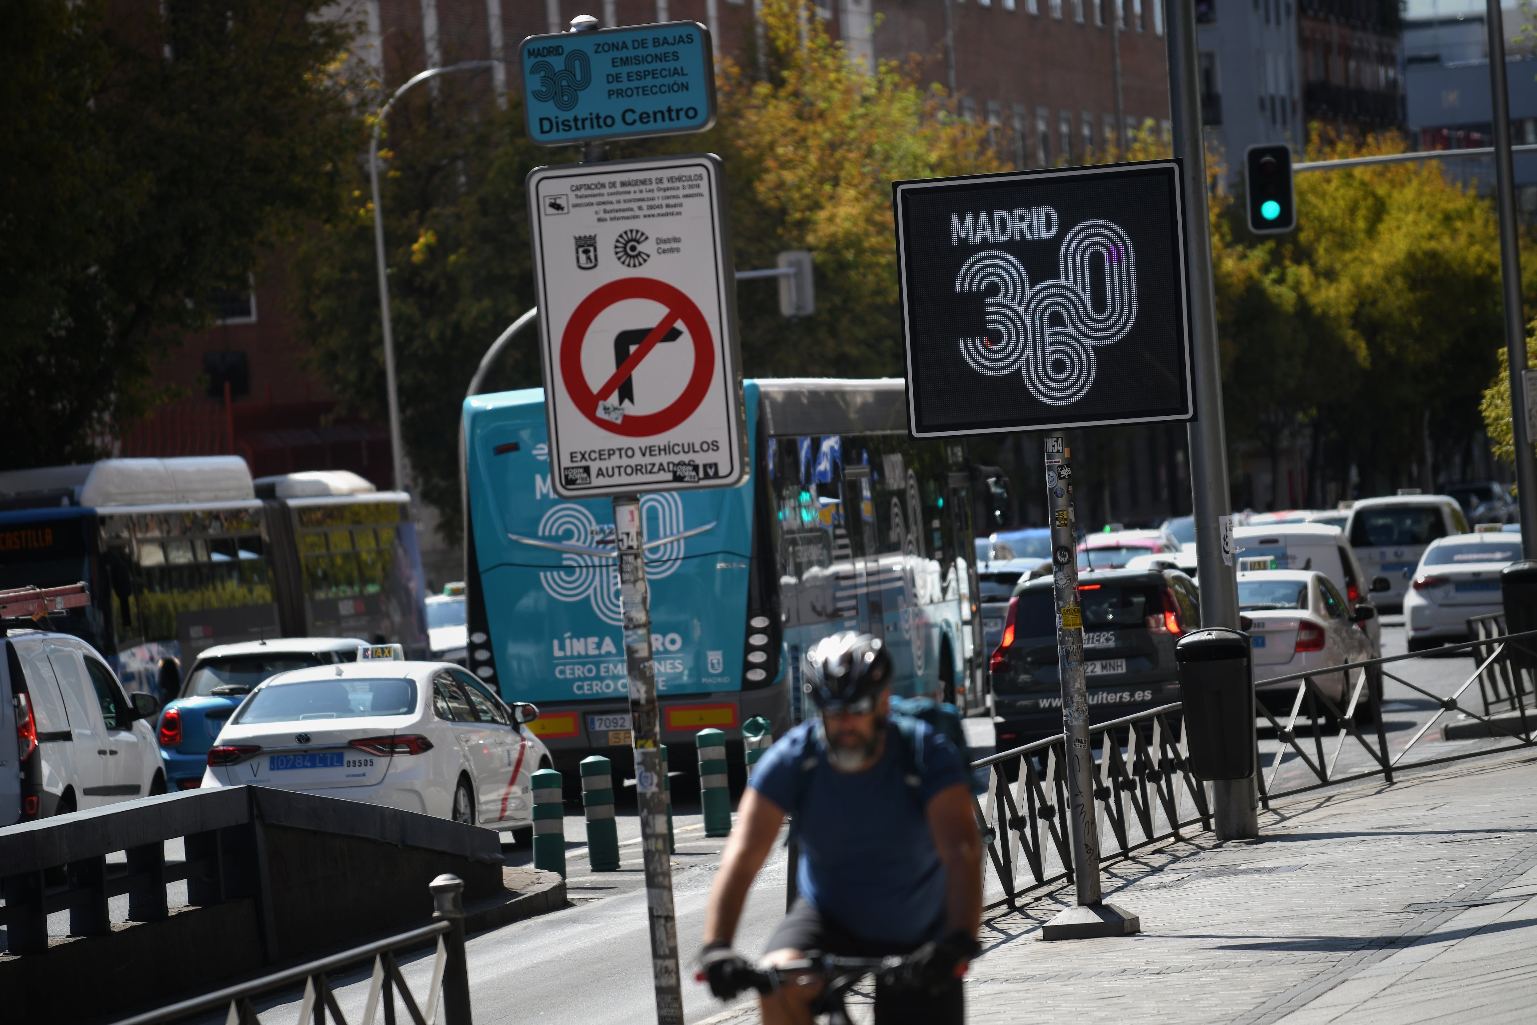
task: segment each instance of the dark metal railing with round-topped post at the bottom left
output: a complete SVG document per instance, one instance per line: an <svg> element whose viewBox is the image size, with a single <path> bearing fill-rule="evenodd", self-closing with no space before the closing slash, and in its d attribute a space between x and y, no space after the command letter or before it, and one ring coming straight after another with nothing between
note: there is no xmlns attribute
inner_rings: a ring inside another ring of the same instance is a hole
<svg viewBox="0 0 1537 1025"><path fill-rule="evenodd" d="M389 1025L401 1020L397 1011L397 997L401 1008L413 1025L435 1025L440 1010L443 1010L444 1025L472 1025L470 1022L470 982L464 960L464 882L458 876L443 874L432 881L432 902L435 919L432 925L423 925L389 939L381 939L363 947L330 957L321 957L306 965L275 971L251 982L243 982L217 993L209 993L191 1000L171 1003L135 1017L124 1019L118 1025L161 1025L175 1022L191 1014L229 1008L226 1022L232 1025L261 1025L252 997L274 990L281 990L304 982L304 996L300 1000L298 1022L314 1022L326 1025L327 1016L337 1025L347 1025L341 1008L337 1005L337 994L330 988L330 976L335 971L373 959L373 976L369 980L367 1000L364 1002L361 1020L372 1025L375 1014L383 1008L384 1020ZM395 954L438 942L437 957L432 962L432 982L427 985L426 1005L423 1007L406 985L400 973ZM289 1020L284 1016L284 1020Z"/></svg>

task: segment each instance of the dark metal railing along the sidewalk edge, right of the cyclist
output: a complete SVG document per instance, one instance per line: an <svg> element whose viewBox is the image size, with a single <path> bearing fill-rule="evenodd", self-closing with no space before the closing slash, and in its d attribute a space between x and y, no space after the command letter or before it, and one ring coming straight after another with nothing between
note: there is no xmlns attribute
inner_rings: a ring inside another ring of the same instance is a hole
<svg viewBox="0 0 1537 1025"><path fill-rule="evenodd" d="M1534 733L1537 707L1532 707L1532 685L1528 679L1537 668L1537 630L1515 635L1503 630L1503 618L1480 616L1477 625L1476 621L1469 621L1469 635L1476 635L1476 639L1465 644L1259 681L1262 687L1293 681L1299 684L1291 699L1291 712L1283 716L1285 725L1265 708L1263 702L1256 702L1260 728L1268 722L1280 742L1280 750L1274 753L1274 761L1268 767L1256 762L1256 782L1263 807L1268 810L1270 802L1279 798L1371 776L1382 776L1391 784L1394 770L1439 765L1537 745ZM1408 659L1423 659L1428 655L1446 656L1459 652L1471 653L1476 668L1446 698L1383 668ZM1525 662L1522 655L1526 656ZM1342 692L1340 702L1336 704L1316 678L1339 675L1345 676L1342 687L1330 688ZM1397 750L1389 747L1382 718L1383 679L1393 679L1439 705L1436 715ZM1474 682L1480 685L1485 701L1483 715L1462 702ZM1491 718L1491 705L1499 702L1508 702L1514 718ZM1343 715L1340 704L1345 705ZM1405 756L1448 712L1460 712L1477 719L1489 727L1492 736L1509 738L1514 742L1406 762ZM1190 771L1183 730L1173 728L1179 716L1180 704L1174 702L1090 728L1091 747L1099 750L1094 765L1097 821L1108 825L1111 833L1111 838L1104 838L1105 828L1100 827L1102 865L1114 864L1151 844L1182 839L1183 830L1194 828L1199 833L1211 828L1205 785ZM1371 739L1362 735L1357 718L1374 724ZM1330 741L1331 751L1325 750L1325 731L1337 731ZM1354 739L1371 756L1371 768L1336 771L1346 739ZM1059 735L971 762L973 770L990 770L987 793L974 801L987 856L1004 891L1004 899L990 907L1001 904L1016 907L1017 899L1033 890L1073 881L1065 758L1065 738ZM1308 770L1305 775L1308 782L1276 790L1282 767L1297 764ZM1021 879L1021 868L1028 871L1028 881Z"/></svg>

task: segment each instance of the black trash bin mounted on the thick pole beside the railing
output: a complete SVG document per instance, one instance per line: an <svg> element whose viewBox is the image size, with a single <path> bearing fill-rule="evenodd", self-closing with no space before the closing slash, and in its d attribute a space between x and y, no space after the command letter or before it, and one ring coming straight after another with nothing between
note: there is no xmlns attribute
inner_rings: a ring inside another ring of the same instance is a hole
<svg viewBox="0 0 1537 1025"><path fill-rule="evenodd" d="M1251 644L1242 630L1210 627L1187 633L1174 645L1190 771L1197 779L1254 775Z"/></svg>

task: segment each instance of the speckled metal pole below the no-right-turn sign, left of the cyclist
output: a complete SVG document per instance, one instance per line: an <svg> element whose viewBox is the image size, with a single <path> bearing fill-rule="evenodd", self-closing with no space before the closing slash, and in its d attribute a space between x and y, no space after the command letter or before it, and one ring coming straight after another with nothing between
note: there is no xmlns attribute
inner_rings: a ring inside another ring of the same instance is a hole
<svg viewBox="0 0 1537 1025"><path fill-rule="evenodd" d="M639 495L615 495L613 539L619 556L619 605L624 616L624 667L630 678L630 728L635 742L635 798L646 859L646 911L652 933L656 1023L682 1025L678 976L678 921L673 916L672 862L667 853L667 794L652 664L652 612L646 593L644 524Z"/></svg>

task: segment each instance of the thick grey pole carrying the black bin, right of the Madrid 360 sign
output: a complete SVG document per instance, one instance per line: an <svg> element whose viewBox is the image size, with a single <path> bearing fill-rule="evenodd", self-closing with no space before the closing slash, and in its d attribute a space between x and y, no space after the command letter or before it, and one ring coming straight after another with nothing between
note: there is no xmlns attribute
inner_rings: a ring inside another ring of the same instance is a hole
<svg viewBox="0 0 1537 1025"><path fill-rule="evenodd" d="M1196 378L1196 415L1190 424L1191 512L1196 515L1196 566L1200 576L1200 625L1239 629L1239 584L1233 553L1223 549L1230 519L1228 450L1222 426L1222 366L1217 353L1217 307L1211 274L1207 212L1207 148L1200 131L1200 57L1191 0L1165 0L1168 34L1168 106L1174 121L1174 155L1183 161L1185 237L1190 241L1190 321ZM1253 731L1254 724L1250 722ZM1211 784L1217 838L1259 836L1254 778Z"/></svg>

